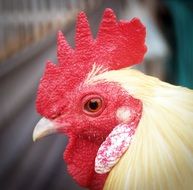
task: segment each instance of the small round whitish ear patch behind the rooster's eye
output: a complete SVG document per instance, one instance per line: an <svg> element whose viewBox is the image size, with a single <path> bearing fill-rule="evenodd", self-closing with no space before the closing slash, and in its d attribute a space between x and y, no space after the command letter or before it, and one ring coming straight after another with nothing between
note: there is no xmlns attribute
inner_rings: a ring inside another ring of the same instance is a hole
<svg viewBox="0 0 193 190"><path fill-rule="evenodd" d="M131 116L129 107L127 106L120 107L117 110L116 116L120 123L128 123Z"/></svg>

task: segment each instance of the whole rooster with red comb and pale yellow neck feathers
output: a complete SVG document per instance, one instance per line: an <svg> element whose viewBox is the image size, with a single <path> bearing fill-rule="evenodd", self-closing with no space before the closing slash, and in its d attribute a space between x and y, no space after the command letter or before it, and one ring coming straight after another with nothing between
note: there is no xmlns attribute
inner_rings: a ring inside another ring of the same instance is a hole
<svg viewBox="0 0 193 190"><path fill-rule="evenodd" d="M91 190L193 187L193 91L131 68L147 50L139 19L106 9L96 39L78 15L75 48L58 33L37 93L33 139L68 136L68 172Z"/></svg>

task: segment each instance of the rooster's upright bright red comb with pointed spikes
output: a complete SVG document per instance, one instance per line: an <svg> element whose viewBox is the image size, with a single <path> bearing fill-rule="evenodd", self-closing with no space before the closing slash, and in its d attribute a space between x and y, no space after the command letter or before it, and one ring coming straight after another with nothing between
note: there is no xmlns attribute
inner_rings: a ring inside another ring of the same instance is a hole
<svg viewBox="0 0 193 190"><path fill-rule="evenodd" d="M46 116L47 112L58 110L55 103L85 79L93 64L115 70L140 63L146 52L145 33L139 19L117 21L114 12L106 9L97 38L93 39L85 13L79 13L75 49L68 45L62 32L58 33L59 64L47 64L38 90L38 112Z"/></svg>

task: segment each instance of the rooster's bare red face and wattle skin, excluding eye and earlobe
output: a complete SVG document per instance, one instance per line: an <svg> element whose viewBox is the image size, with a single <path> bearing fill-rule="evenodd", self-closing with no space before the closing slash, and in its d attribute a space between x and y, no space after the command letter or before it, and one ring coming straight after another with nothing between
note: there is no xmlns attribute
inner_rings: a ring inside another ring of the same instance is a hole
<svg viewBox="0 0 193 190"><path fill-rule="evenodd" d="M142 103L116 83L78 87L66 97L67 105L62 107L60 102L58 102L59 105L55 105L60 113L56 110L57 116L54 120L64 126L58 131L69 137L69 143L64 152L68 171L80 186L102 190L108 174L100 175L94 171L94 161L99 146L119 124L120 121L116 116L118 108L129 107L132 113L130 122L135 122L137 127ZM84 111L84 104L85 100L92 97L102 99L102 108L94 115L89 115ZM52 112L51 114L53 115Z"/></svg>

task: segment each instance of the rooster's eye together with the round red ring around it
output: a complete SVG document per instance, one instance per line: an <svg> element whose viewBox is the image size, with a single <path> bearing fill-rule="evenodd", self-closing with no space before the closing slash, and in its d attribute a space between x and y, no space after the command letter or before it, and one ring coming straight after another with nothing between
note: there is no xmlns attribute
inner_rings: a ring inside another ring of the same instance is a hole
<svg viewBox="0 0 193 190"><path fill-rule="evenodd" d="M104 109L104 101L100 96L90 95L84 98L83 112L89 116L98 116Z"/></svg>

